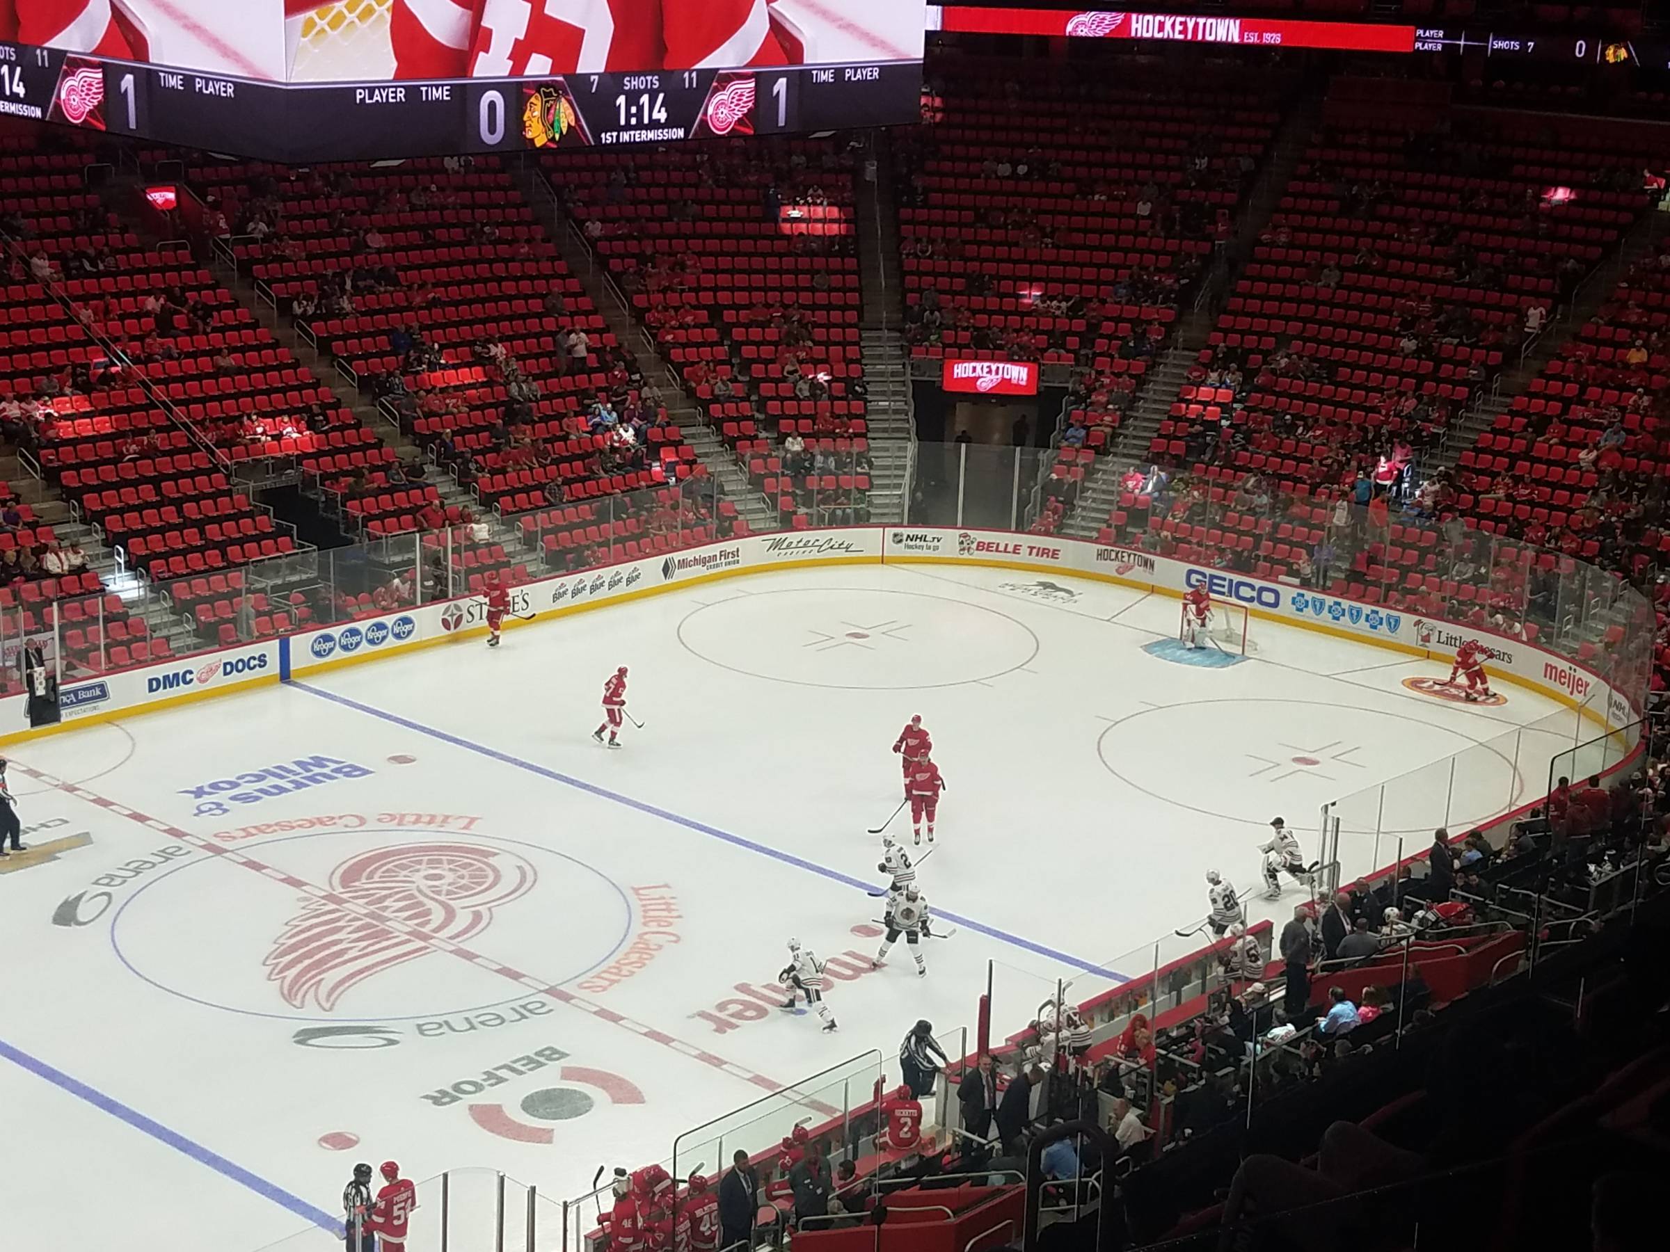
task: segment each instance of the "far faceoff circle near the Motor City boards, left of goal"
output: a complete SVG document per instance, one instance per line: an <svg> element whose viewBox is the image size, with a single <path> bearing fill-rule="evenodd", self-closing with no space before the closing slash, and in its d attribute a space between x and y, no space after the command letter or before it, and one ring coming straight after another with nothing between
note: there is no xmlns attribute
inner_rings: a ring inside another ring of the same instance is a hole
<svg viewBox="0 0 1670 1252"><path fill-rule="evenodd" d="M693 609L678 639L740 674L860 691L989 681L1039 651L1037 636L1007 613L873 588L740 594Z"/></svg>

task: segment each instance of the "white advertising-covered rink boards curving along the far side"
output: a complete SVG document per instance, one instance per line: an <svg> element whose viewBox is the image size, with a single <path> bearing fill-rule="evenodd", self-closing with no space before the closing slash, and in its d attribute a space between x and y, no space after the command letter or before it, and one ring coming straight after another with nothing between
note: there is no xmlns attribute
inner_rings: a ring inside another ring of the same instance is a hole
<svg viewBox="0 0 1670 1252"><path fill-rule="evenodd" d="M1483 638L1495 653L1491 664L1486 666L1491 676L1576 708L1605 731L1617 731L1640 719L1640 693L1613 689L1590 668L1525 639L1137 549L1009 531L852 526L745 536L586 573L534 579L511 593L511 613L543 619L740 574L877 563L974 564L1035 574L1057 573L1162 596L1182 596L1189 588L1206 586L1214 599L1242 604L1254 618L1421 658L1448 658L1463 638ZM518 616L506 621L509 628L526 624L529 623ZM486 601L459 598L162 664L73 679L67 681L58 694L63 714L58 726L12 731L0 736L0 743L50 735L117 714L134 716L192 699L244 691L324 668L374 661L412 648L479 636L484 631ZM7 706L7 724L20 726L25 721L23 696L8 696L0 703Z"/></svg>

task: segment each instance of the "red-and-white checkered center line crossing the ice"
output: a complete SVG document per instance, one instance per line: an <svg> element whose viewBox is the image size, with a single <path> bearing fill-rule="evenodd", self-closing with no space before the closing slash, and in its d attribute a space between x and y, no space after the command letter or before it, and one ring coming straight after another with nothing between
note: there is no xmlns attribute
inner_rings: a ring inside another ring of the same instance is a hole
<svg viewBox="0 0 1670 1252"><path fill-rule="evenodd" d="M189 843L194 848L202 848L204 851L214 853L215 856L220 856L230 861L232 865L239 865L245 870L259 873L262 878L272 878L276 881L284 883L286 886L311 895L316 900L324 900L331 905L336 905L337 908L354 913L356 916L366 918L367 921L376 921L379 926L386 926L387 930L392 930L399 935L418 940L419 943L428 945L434 952L444 952L449 957L458 957L468 962L469 965L474 965L476 968L491 970L493 973L498 973L503 978L509 978L511 982L528 988L529 992L534 992L536 995L544 995L549 997L551 1000L556 1000L558 1003L568 1005L569 1008L578 1008L583 1013L591 1013L591 1017L598 1018L600 1022L610 1022L613 1025L618 1025L623 1030L630 1030L631 1033L650 1040L651 1043L660 1043L663 1048L671 1048L681 1057L691 1057L695 1060L700 1060L703 1065L711 1065L713 1068L728 1073L733 1078L741 1078L743 1082L750 1082L765 1092L775 1093L785 1090L783 1083L777 1082L775 1078L768 1078L763 1073L755 1073L753 1070L736 1065L735 1062L725 1060L723 1057L706 1052L705 1048L698 1048L693 1043L685 1043L681 1038L675 1038L673 1035L668 1035L665 1030L656 1030L655 1027L645 1025L643 1022L636 1022L626 1017L625 1013L616 1013L613 1008L605 1008L603 1005L593 1003L591 1000L586 1000L581 995L574 995L569 990L564 990L561 987L553 987L539 978L534 978L529 973L523 973L514 967L504 965L494 960L493 957L468 948L463 943L453 943L451 940L441 938L439 935L433 935L428 930L412 926L411 923L402 921L399 918L387 916L376 908L369 908L359 903L357 900L347 900L346 896L341 896L336 891L327 891L326 888L316 886L314 883L309 883L304 878L297 878L296 875L289 873L287 870L281 870L276 865L267 865L266 861L259 861L254 856L242 851L235 851L232 848L222 848L214 840L207 840L200 835L192 835L189 831L184 831L179 826L162 821L160 818L147 816L139 810L129 808L127 805L120 805L115 800L109 800L107 796L97 795L95 791L89 791L85 786L67 783L62 778L53 778L52 775L42 773L40 770L32 770L22 761L13 761L12 768L45 783L47 786L57 788L65 795L85 800L90 805L97 805L99 808L117 813L142 826L149 826L150 830L162 831L164 835L169 835L170 838L175 838L180 843ZM807 1107L815 1108L818 1113L823 1113L827 1117L833 1117L835 1113L840 1112L838 1108L823 1105L822 1102L817 1100L802 1098L800 1103L805 1103Z"/></svg>

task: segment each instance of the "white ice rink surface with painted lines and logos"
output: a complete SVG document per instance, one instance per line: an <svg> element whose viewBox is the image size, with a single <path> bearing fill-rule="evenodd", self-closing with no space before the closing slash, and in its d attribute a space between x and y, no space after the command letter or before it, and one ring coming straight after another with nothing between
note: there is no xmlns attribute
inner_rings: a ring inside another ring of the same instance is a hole
<svg viewBox="0 0 1670 1252"><path fill-rule="evenodd" d="M992 568L788 571L18 746L25 838L62 851L0 876L8 1234L256 1249L389 1157L578 1195L777 1085L892 1058L917 1018L954 1047L989 962L995 1033L1054 978L1084 998L1141 973L1204 913L1207 868L1284 918L1298 886L1259 898L1271 816L1309 855L1323 801L1560 708L1446 703L1403 686L1445 664L1266 621L1229 668L1146 653L1177 614ZM591 729L616 664L645 729L611 753ZM925 978L903 945L867 968L865 830L912 714L947 780L920 883L959 926ZM1463 758L1451 828L1541 786L1551 751ZM1396 855L1346 846L1348 876ZM835 958L835 1035L768 1007L790 935ZM100 1204L67 1209L72 1177Z"/></svg>

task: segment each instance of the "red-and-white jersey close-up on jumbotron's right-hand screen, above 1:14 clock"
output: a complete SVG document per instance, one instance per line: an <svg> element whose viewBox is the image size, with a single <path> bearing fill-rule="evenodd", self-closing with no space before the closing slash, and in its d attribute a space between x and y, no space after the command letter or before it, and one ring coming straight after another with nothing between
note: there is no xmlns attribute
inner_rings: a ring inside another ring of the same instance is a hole
<svg viewBox="0 0 1670 1252"><path fill-rule="evenodd" d="M767 0L394 0L396 78L787 65Z"/></svg>

